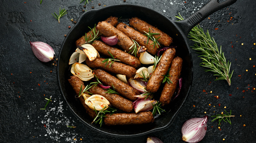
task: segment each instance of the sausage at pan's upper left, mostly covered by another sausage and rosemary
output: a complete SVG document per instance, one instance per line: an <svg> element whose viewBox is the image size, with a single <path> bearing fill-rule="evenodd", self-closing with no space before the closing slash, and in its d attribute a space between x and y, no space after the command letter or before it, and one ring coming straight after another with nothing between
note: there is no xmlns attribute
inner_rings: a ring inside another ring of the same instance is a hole
<svg viewBox="0 0 256 143"><path fill-rule="evenodd" d="M107 18L105 21L106 21L107 23L113 25L113 26L116 26L116 25L118 24L118 18L117 18L117 17L112 17L112 16L111 16L111 17ZM96 31L96 33L98 32L97 29L95 29L95 31ZM85 37L85 36L87 36L87 37L89 36L89 39L92 38L90 32L93 34L93 31L91 30L91 31L87 32L86 35L84 35L84 37ZM100 36L100 35L101 35L101 34L99 33L99 36ZM81 38L79 38L78 40L76 40L76 42L75 42L76 46L80 46L80 45L82 45L82 44L85 43L84 37L81 37Z"/></svg>

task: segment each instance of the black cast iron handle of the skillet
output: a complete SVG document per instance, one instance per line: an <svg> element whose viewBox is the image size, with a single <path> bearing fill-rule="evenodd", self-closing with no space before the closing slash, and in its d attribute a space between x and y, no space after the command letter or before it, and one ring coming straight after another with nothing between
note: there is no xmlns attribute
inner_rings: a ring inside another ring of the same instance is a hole
<svg viewBox="0 0 256 143"><path fill-rule="evenodd" d="M203 21L206 17L218 11L222 8L225 8L229 5L232 5L237 0L226 0L225 2L219 3L219 0L209 1L203 8L200 8L196 13L192 14L188 18L176 21L175 23L181 28L183 33L187 36L190 30Z"/></svg>

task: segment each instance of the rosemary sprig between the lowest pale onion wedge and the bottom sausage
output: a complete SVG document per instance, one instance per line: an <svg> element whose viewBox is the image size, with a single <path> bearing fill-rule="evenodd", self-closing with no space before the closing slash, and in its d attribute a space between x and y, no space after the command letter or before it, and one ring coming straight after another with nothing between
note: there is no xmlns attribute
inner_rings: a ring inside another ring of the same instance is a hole
<svg viewBox="0 0 256 143"><path fill-rule="evenodd" d="M97 110L95 109L95 107L94 107L94 111L96 112L96 117L94 118L94 120L93 120L93 122L95 122L95 123L99 123L100 124L100 127L101 127L101 124L102 124L102 119L103 119L103 117L106 117L105 116L105 114L106 113L111 113L110 115L112 115L114 112L116 112L117 111L117 109L113 109L113 108L111 108L111 107L108 107L108 109L106 109L107 108L107 106L105 106L103 109L101 109L99 112L97 112ZM105 110L106 109L106 110ZM97 119L97 118L99 118L99 119ZM97 119L97 120L96 120ZM92 123L93 123L92 122Z"/></svg>

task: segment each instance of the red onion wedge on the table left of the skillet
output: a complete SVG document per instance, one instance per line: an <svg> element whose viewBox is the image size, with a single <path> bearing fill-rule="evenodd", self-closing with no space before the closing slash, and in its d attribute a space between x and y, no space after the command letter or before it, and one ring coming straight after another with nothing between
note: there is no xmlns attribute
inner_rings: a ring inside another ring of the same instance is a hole
<svg viewBox="0 0 256 143"><path fill-rule="evenodd" d="M42 62L49 62L53 60L54 51L53 48L44 42L31 42L30 46L34 55Z"/></svg>

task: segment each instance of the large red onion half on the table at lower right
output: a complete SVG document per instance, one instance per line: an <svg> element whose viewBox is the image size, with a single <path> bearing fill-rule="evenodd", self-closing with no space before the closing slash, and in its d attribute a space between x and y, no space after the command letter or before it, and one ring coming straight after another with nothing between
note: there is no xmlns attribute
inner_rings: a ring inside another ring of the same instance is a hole
<svg viewBox="0 0 256 143"><path fill-rule="evenodd" d="M201 141L206 133L207 120L208 116L187 120L181 128L182 140L190 143Z"/></svg>

